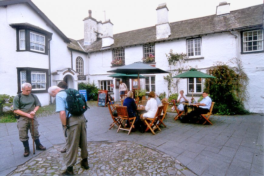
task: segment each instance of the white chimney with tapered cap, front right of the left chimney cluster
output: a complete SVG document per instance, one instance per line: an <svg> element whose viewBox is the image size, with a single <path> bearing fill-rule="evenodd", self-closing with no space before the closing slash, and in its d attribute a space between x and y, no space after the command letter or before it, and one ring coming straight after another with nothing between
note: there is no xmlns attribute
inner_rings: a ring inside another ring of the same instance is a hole
<svg viewBox="0 0 264 176"><path fill-rule="evenodd" d="M102 48L111 46L113 43L113 23L110 22L110 19L107 19L103 22Z"/></svg>

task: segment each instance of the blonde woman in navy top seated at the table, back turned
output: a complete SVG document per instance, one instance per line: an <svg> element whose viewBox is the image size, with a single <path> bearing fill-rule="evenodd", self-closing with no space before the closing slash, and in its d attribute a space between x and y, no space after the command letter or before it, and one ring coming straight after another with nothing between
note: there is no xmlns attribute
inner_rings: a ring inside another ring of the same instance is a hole
<svg viewBox="0 0 264 176"><path fill-rule="evenodd" d="M137 104L135 103L135 100L133 99L133 92L129 91L127 93L127 98L124 100L123 102L123 106L127 107L127 113L128 113L128 117L137 117L135 120L135 123L138 120L138 116L136 113L137 110ZM128 122L126 122L125 127L127 126ZM135 128L135 126L133 125L133 128Z"/></svg>

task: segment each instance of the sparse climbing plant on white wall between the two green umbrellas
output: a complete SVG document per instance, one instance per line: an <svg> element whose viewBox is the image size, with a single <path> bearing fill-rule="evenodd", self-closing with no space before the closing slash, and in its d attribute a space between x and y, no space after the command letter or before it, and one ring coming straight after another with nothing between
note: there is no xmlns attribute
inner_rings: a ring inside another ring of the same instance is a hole
<svg viewBox="0 0 264 176"><path fill-rule="evenodd" d="M163 76L164 80L168 83L168 97L171 93L178 93L178 83L180 79L171 78L178 74L182 73L183 69L187 69L187 66L184 67L183 64L187 62L188 55L186 53L174 53L171 49L170 52L167 54L165 53L168 64L170 67L170 72L168 75Z"/></svg>

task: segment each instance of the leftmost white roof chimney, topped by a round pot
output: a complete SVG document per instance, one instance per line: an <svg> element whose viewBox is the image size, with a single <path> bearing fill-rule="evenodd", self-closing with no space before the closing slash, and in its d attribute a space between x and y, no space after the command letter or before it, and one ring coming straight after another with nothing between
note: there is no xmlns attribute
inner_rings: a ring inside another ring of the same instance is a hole
<svg viewBox="0 0 264 176"><path fill-rule="evenodd" d="M97 39L97 21L92 18L92 11L89 10L89 17L84 22L84 45L91 45Z"/></svg>

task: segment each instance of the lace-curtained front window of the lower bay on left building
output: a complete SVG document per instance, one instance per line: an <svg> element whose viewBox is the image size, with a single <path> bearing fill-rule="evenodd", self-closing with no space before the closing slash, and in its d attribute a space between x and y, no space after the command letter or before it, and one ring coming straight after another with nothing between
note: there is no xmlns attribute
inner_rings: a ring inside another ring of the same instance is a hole
<svg viewBox="0 0 264 176"><path fill-rule="evenodd" d="M46 90L46 72L31 72L32 90Z"/></svg>

